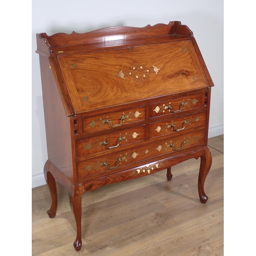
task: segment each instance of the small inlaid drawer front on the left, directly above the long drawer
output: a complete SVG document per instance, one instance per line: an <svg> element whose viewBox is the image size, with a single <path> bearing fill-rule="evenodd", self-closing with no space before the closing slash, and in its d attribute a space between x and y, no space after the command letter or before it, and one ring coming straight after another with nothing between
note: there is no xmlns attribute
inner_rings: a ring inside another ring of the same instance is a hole
<svg viewBox="0 0 256 256"><path fill-rule="evenodd" d="M121 148L143 140L145 140L144 125L78 140L76 141L77 157L110 152L113 148Z"/></svg>

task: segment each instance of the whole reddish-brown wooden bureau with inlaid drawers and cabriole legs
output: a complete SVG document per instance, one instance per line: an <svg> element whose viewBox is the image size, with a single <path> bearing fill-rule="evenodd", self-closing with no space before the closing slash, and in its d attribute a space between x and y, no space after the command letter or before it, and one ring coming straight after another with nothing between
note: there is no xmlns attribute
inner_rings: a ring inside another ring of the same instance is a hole
<svg viewBox="0 0 256 256"><path fill-rule="evenodd" d="M36 34L52 205L56 181L69 193L81 248L86 191L200 157L198 193L211 166L207 147L214 84L193 33L180 22L87 33Z"/></svg>

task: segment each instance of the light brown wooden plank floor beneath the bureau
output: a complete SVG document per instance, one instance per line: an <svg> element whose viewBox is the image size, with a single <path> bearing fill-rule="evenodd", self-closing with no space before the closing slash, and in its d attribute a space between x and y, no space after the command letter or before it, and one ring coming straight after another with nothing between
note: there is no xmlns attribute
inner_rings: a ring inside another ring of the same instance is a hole
<svg viewBox="0 0 256 256"><path fill-rule="evenodd" d="M32 189L32 255L199 256L223 255L223 139L208 141L212 165L201 204L200 159L128 182L87 192L82 199L82 248L76 252L75 218L65 188L57 184L54 219L47 185Z"/></svg>

